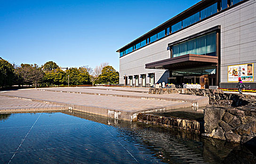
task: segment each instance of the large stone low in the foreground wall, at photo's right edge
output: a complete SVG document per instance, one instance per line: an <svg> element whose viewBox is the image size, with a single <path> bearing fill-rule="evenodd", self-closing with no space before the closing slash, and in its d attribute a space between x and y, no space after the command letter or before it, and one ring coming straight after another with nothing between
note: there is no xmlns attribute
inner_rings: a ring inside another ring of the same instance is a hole
<svg viewBox="0 0 256 164"><path fill-rule="evenodd" d="M234 133L246 136L256 136L256 121L242 124L234 129Z"/></svg>

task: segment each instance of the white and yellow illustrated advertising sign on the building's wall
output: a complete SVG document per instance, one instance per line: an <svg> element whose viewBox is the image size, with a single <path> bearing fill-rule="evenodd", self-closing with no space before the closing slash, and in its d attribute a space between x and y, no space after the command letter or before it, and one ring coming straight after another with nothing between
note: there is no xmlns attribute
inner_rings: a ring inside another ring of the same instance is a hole
<svg viewBox="0 0 256 164"><path fill-rule="evenodd" d="M253 64L228 66L228 82L253 82Z"/></svg>

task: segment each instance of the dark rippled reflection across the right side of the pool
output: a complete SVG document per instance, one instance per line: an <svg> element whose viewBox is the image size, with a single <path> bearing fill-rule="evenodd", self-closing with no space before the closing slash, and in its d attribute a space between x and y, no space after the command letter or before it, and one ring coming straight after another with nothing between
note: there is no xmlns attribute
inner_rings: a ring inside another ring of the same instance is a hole
<svg viewBox="0 0 256 164"><path fill-rule="evenodd" d="M81 112L66 114L117 127L120 137L142 145L142 148L150 151L153 157L161 159L164 163L256 163L256 156L245 146L202 138L200 134L191 131L167 129L139 122L128 123Z"/></svg>

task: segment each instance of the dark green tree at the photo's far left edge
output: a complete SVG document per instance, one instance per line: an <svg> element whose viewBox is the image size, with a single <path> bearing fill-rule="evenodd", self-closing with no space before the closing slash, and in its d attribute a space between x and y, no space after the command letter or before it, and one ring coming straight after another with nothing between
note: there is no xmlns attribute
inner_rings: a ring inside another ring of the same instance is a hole
<svg viewBox="0 0 256 164"><path fill-rule="evenodd" d="M14 67L7 60L0 59L0 87L12 86L14 77Z"/></svg>

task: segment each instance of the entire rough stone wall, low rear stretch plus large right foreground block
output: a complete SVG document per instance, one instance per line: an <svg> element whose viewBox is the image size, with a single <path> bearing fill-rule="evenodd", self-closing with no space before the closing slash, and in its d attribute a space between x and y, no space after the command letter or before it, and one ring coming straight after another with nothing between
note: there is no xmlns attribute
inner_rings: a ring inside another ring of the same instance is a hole
<svg viewBox="0 0 256 164"><path fill-rule="evenodd" d="M209 97L204 110L203 136L256 145L256 96L224 93L221 89L155 89L150 94Z"/></svg>

